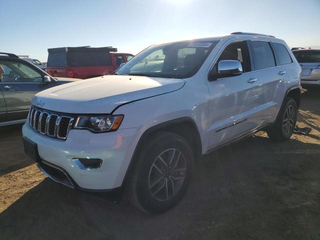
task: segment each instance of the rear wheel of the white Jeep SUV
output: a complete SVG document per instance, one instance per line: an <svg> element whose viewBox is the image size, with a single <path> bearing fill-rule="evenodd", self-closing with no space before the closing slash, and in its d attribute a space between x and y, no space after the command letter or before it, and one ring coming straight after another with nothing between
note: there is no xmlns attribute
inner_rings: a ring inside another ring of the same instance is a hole
<svg viewBox="0 0 320 240"><path fill-rule="evenodd" d="M285 141L289 139L295 127L298 111L296 102L291 97L286 97L284 100L284 106L281 109L277 120L266 131L273 141Z"/></svg>

